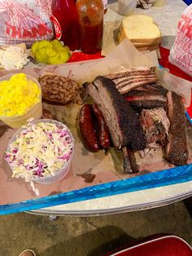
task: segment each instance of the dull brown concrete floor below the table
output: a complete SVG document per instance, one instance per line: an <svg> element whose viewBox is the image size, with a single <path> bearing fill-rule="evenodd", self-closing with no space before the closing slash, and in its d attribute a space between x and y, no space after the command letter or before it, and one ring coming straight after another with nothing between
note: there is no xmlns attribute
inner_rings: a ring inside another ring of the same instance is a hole
<svg viewBox="0 0 192 256"><path fill-rule="evenodd" d="M181 236L192 245L192 220L183 202L161 208L102 217L11 214L0 216L0 255L26 248L39 256L97 256L142 236L159 232Z"/></svg>

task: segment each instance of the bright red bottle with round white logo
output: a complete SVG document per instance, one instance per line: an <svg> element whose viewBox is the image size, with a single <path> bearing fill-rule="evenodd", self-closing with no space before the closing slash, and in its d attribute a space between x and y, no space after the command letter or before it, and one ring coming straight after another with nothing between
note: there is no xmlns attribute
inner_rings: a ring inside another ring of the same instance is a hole
<svg viewBox="0 0 192 256"><path fill-rule="evenodd" d="M79 49L76 21L76 4L74 0L53 0L51 20L55 27L55 38L64 42L70 50Z"/></svg>

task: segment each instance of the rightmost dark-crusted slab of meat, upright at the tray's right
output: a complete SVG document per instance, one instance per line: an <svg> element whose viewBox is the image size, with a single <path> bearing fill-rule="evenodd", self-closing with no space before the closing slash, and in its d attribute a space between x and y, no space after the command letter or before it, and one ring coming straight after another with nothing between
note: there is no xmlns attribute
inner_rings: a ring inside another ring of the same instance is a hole
<svg viewBox="0 0 192 256"><path fill-rule="evenodd" d="M171 125L168 134L168 144L165 149L165 157L173 165L182 166L187 164L189 157L185 134L185 108L180 95L168 91L167 97L168 118Z"/></svg>

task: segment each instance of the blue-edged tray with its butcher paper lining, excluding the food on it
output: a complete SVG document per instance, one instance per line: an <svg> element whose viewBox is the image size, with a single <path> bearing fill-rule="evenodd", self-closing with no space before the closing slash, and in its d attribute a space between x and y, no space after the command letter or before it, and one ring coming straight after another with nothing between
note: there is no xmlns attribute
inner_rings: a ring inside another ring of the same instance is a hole
<svg viewBox="0 0 192 256"><path fill-rule="evenodd" d="M124 46L126 55L129 55L129 60L132 60L133 55L135 56L133 58L135 61L133 65L138 66L147 62L146 57L143 58L142 55L135 53L131 49L131 46ZM128 52L132 50L133 52ZM123 49L120 49L120 51L124 55ZM123 65L122 55L120 56L119 53L117 55L118 60L114 60L114 62L120 62ZM114 55L111 57L114 59ZM107 61L113 67L114 63L112 64L111 60L105 58L105 64L100 67L101 69L107 67ZM128 60L126 60L127 62ZM87 79L87 77L92 79L98 72L100 74L100 71L98 71L100 65L98 61L88 61L86 64L50 66L46 67L46 70L35 68L25 70L24 72L30 73L33 77L38 77L45 71L54 71L58 74L69 74L73 79L77 79L79 76L79 80L81 81ZM37 184L36 187L39 189L40 196L35 196L29 184L23 180L11 179L11 170L8 168L7 162L3 157L8 140L15 130L8 129L8 127L4 126L6 133L0 138L0 214L37 210L52 205L63 205L125 192L139 192L170 184L187 183L192 180L192 131L190 125L188 129L188 143L190 148L188 165L174 167L162 161L162 156L159 154L158 159L154 158L151 162L147 159L146 162L142 162L142 170L133 177L133 175L122 173L120 170L122 164L118 157L112 158L111 156L114 156L112 154L106 156L103 151L92 153L85 150L76 135L76 114L79 108L81 107L77 104L63 106L43 103L43 116L65 123L72 130L76 145L72 168L66 178L52 185ZM137 162L137 164L140 165L141 163Z"/></svg>

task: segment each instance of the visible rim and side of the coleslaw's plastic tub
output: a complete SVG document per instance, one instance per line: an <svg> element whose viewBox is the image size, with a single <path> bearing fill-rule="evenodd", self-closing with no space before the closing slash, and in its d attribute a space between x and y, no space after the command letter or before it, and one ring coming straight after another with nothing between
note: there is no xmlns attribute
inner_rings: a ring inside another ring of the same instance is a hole
<svg viewBox="0 0 192 256"><path fill-rule="evenodd" d="M67 163L65 163L65 165L63 166L62 169L59 169L54 176L47 176L47 177L40 177L40 178L34 178L34 179L31 179L31 181L35 182L35 183L40 183L40 184L53 184L53 183L57 183L59 182L60 180L62 180L67 174L68 174L68 171L70 170L70 167L71 167L71 164L72 164L72 157L74 155L74 143L75 143L75 139L71 133L71 131L68 129L68 126L65 126L62 122L60 121L55 121L55 120L50 120L50 119L40 119L40 120L34 120L32 121L33 124L37 124L37 123L40 123L40 122L50 122L50 123L53 123L53 124L56 124L58 126L63 126L66 130L69 131L69 135L72 139L72 154L68 160ZM17 135L20 134L21 130L23 130L24 128L20 128L20 130L17 130L15 132L15 134L11 137L11 140L9 141L8 145L7 145L7 152L10 151L10 147L9 145L11 143L13 143L17 137ZM9 163L8 163L9 164ZM10 164L9 164L10 166ZM11 166L10 166L11 168Z"/></svg>

